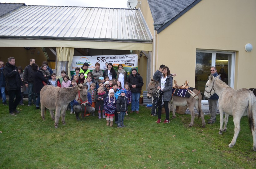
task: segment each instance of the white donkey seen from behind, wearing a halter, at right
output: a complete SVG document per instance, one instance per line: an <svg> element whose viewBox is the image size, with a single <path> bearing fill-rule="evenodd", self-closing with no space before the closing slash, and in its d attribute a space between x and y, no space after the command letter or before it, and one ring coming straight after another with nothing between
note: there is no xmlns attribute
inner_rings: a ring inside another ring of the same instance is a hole
<svg viewBox="0 0 256 169"><path fill-rule="evenodd" d="M256 120L256 98L253 92L249 89L243 88L234 90L225 82L221 81L219 76L214 78L212 75L210 75L204 91L204 96L207 98L212 96L214 93L219 96L219 134L222 134L222 131L227 130L229 115L233 115L235 133L231 143L229 144L229 147L232 148L236 143L236 139L240 131L241 117L248 115L249 125L253 135L253 150L256 151L256 127L254 121ZM222 129L224 112L225 124L224 129Z"/></svg>

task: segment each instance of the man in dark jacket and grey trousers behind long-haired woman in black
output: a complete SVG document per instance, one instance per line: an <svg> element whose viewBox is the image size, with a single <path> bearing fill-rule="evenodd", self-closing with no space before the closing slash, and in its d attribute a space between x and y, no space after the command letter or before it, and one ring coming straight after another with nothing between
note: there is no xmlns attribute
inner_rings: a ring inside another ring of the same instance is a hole
<svg viewBox="0 0 256 169"><path fill-rule="evenodd" d="M36 93L33 92L33 70L32 70L32 63L36 63L35 59L30 59L30 64L27 65L24 69L24 76L23 80L25 82L26 87L28 87L28 106L31 106L32 100L34 105L36 105Z"/></svg>

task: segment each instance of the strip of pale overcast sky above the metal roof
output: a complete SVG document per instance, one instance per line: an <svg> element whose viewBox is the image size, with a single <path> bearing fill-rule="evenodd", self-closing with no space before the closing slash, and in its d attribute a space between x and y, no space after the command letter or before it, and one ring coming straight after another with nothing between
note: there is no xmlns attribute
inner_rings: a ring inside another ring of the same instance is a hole
<svg viewBox="0 0 256 169"><path fill-rule="evenodd" d="M1 0L0 2L26 3L26 5L127 8L127 0Z"/></svg>

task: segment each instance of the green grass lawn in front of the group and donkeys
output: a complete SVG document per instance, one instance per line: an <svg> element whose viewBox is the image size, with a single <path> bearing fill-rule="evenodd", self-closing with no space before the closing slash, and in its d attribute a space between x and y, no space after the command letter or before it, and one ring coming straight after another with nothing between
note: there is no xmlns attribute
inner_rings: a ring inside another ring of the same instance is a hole
<svg viewBox="0 0 256 169"><path fill-rule="evenodd" d="M49 111L43 121L41 111L27 102L18 109L21 113L13 116L8 106L0 106L0 168L256 168L247 117L241 119L236 145L229 148L232 117L222 135L219 115L215 124L202 128L196 118L189 128L190 115L157 124L144 106L139 114L125 116L125 128L106 126L106 119L97 116L76 121L66 111L66 125L60 120L55 129Z"/></svg>

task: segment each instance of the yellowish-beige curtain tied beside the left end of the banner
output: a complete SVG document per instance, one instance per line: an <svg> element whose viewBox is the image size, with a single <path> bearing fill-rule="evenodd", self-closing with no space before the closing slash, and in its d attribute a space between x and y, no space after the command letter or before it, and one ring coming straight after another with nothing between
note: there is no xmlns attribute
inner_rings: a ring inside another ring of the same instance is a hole
<svg viewBox="0 0 256 169"><path fill-rule="evenodd" d="M61 71L65 70L66 74L71 78L70 66L74 56L74 48L56 47L57 54L57 78L61 77Z"/></svg>

